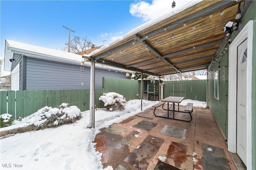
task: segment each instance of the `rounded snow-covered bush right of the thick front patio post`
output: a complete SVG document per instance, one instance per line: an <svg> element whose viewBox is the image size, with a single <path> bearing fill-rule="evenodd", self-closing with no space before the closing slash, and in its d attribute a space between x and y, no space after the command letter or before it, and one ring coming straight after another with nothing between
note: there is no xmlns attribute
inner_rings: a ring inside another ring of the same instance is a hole
<svg viewBox="0 0 256 170"><path fill-rule="evenodd" d="M103 93L103 96L100 96L99 100L102 100L104 107L110 111L116 108L121 111L124 109L126 103L124 96L115 92Z"/></svg>

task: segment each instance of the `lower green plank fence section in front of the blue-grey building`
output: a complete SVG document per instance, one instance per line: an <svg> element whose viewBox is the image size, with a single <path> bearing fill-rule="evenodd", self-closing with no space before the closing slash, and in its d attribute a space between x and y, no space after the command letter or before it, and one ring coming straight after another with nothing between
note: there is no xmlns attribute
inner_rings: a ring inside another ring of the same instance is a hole
<svg viewBox="0 0 256 170"><path fill-rule="evenodd" d="M95 98L98 99L105 89L95 89ZM8 99L8 100L7 100ZM62 103L77 106L81 111L90 107L90 89L65 90L24 90L0 91L0 114L8 113L13 118L26 117L44 106L59 107ZM95 100L96 107L102 107L100 100ZM16 116L15 116L16 115Z"/></svg>

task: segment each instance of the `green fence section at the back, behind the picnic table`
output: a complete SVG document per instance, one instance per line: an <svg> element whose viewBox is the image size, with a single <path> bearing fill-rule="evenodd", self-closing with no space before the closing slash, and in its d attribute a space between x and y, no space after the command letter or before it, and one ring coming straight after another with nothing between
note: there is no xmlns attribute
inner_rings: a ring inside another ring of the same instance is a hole
<svg viewBox="0 0 256 170"><path fill-rule="evenodd" d="M163 81L164 98L168 96L206 102L206 80Z"/></svg>

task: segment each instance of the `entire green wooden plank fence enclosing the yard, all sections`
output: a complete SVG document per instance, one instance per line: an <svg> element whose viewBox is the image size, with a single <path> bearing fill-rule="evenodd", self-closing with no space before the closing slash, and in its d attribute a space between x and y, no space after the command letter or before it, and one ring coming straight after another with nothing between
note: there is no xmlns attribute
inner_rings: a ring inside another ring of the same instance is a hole
<svg viewBox="0 0 256 170"><path fill-rule="evenodd" d="M103 88L95 89L96 108L102 108L98 100L103 93L122 94L126 101L138 99L140 81L121 78L103 78ZM164 81L164 98L183 96L185 99L206 101L206 80ZM8 99L8 100L7 100ZM59 107L62 103L77 106L81 111L90 107L90 89L0 91L0 114L13 118L26 117L44 106Z"/></svg>

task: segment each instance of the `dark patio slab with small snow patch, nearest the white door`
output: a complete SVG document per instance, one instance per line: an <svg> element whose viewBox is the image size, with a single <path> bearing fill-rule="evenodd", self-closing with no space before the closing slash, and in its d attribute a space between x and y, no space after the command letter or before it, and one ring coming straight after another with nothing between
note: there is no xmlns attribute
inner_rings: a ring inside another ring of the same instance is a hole
<svg viewBox="0 0 256 170"><path fill-rule="evenodd" d="M204 170L230 170L223 149L202 144Z"/></svg>

